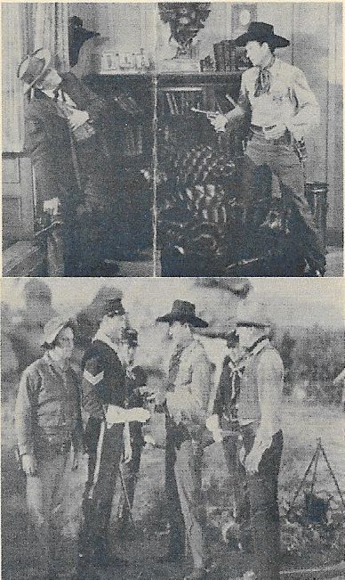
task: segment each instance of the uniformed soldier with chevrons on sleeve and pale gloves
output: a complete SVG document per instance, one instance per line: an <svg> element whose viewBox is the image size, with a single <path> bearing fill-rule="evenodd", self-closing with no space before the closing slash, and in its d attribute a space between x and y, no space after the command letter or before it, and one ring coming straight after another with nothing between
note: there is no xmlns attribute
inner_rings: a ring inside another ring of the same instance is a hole
<svg viewBox="0 0 345 580"><path fill-rule="evenodd" d="M99 330L83 361L82 405L89 415L85 429L89 463L80 537L80 578L84 578L89 564L100 568L127 564L108 551L108 524L124 445L128 446L126 427L131 421L145 422L149 416L143 409L126 411L125 363L120 356L128 321L121 298L103 303L99 321Z"/></svg>

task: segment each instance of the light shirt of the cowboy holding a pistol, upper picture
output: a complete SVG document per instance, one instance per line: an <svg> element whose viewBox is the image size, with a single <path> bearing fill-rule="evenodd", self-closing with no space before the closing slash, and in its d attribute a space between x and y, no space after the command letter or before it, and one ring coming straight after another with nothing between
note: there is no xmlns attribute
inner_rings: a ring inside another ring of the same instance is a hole
<svg viewBox="0 0 345 580"><path fill-rule="evenodd" d="M238 106L228 118L250 111L252 124L273 127L282 124L299 141L320 120L320 108L304 73L298 67L275 58L269 67L269 91L254 96L259 67L245 70L242 75Z"/></svg>

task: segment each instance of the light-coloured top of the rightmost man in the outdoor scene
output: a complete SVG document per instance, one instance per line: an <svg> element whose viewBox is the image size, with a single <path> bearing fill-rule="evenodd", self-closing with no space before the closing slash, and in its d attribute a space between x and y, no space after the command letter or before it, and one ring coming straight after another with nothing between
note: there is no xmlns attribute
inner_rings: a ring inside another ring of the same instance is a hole
<svg viewBox="0 0 345 580"><path fill-rule="evenodd" d="M280 429L283 386L282 359L269 339L263 339L246 361L237 413L239 423L251 423L256 437L265 444Z"/></svg>

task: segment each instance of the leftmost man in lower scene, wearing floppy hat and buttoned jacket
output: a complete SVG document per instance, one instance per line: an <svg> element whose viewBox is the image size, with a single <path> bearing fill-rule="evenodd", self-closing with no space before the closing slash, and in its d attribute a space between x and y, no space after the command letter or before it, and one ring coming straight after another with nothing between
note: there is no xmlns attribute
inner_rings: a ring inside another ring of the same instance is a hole
<svg viewBox="0 0 345 580"><path fill-rule="evenodd" d="M60 502L71 446L72 470L83 447L83 425L76 374L69 361L74 332L68 320L53 318L44 326L45 354L23 372L15 407L15 425L27 501L37 550L36 578L56 578L54 511Z"/></svg>

